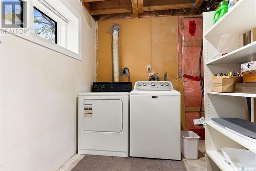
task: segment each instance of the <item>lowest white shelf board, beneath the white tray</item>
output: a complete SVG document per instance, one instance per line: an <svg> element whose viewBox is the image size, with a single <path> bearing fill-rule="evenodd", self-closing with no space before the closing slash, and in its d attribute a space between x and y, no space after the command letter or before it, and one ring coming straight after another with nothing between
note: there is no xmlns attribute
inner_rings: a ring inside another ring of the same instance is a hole
<svg viewBox="0 0 256 171"><path fill-rule="evenodd" d="M222 152L207 151L206 154L217 164L221 170L233 170L233 167L225 162L226 159Z"/></svg>

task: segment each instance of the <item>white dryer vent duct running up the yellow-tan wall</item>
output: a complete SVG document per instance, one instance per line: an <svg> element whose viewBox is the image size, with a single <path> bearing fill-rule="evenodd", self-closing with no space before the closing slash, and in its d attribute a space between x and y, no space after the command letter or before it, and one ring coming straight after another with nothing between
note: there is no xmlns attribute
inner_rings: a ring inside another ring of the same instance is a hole
<svg viewBox="0 0 256 171"><path fill-rule="evenodd" d="M114 82L119 82L118 36L119 36L119 31L120 31L120 25L113 24L111 26L110 31L112 32Z"/></svg>

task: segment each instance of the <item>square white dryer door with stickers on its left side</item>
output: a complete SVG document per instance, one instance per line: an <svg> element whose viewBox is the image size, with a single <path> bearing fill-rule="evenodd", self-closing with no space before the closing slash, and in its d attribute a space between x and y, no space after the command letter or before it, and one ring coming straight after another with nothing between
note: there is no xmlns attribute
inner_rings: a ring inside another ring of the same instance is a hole
<svg viewBox="0 0 256 171"><path fill-rule="evenodd" d="M121 132L122 115L119 99L86 99L83 101L83 130Z"/></svg>

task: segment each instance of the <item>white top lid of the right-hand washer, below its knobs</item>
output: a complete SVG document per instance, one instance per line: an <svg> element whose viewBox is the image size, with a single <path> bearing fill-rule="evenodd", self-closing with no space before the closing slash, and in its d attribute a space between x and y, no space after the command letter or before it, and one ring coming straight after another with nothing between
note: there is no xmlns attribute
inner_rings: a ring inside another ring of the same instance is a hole
<svg viewBox="0 0 256 171"><path fill-rule="evenodd" d="M180 96L180 92L176 90L166 90L166 91L144 91L144 90L133 90L130 95L165 95L165 96Z"/></svg>

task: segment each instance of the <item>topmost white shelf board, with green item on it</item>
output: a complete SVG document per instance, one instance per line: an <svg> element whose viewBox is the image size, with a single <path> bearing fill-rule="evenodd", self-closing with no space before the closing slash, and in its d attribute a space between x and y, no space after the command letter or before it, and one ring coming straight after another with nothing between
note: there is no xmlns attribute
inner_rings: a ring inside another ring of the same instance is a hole
<svg viewBox="0 0 256 171"><path fill-rule="evenodd" d="M240 0L204 34L204 37L207 38L225 34L243 34L255 28L255 11L255 0Z"/></svg>

